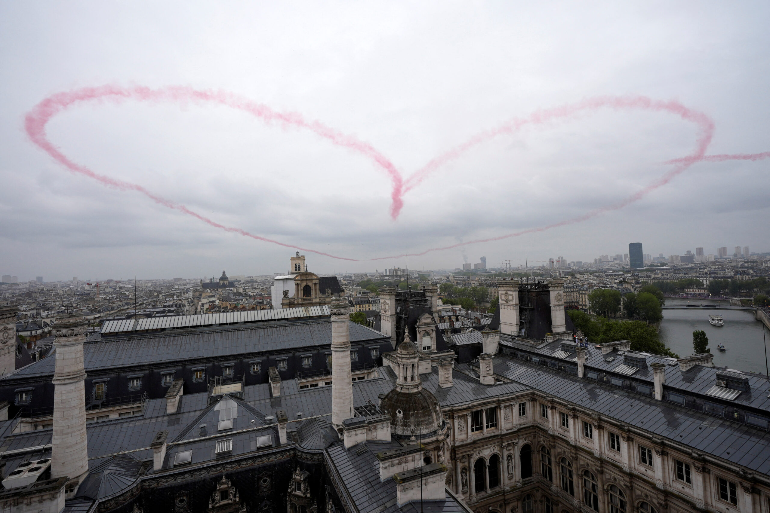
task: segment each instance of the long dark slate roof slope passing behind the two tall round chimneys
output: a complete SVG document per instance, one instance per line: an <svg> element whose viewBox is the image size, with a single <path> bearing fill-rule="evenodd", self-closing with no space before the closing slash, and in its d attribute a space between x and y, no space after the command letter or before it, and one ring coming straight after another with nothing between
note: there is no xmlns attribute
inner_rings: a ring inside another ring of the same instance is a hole
<svg viewBox="0 0 770 513"><path fill-rule="evenodd" d="M350 341L386 339L379 331L350 321ZM179 335L157 335L142 338L110 338L109 341L83 345L85 371L151 365L158 361L169 364L196 358L217 358L265 351L294 350L331 344L331 321L277 321L241 329L210 329ZM0 379L53 375L55 358L43 358Z"/></svg>

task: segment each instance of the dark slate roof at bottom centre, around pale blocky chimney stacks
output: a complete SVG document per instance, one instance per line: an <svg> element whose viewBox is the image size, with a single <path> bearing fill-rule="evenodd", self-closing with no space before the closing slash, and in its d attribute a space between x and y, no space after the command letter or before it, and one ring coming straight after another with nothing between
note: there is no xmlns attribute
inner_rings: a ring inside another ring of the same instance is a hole
<svg viewBox="0 0 770 513"><path fill-rule="evenodd" d="M420 502L410 502L403 508L397 504L396 482L386 479L380 482L377 452L400 448L394 441L366 441L346 449L342 442L337 442L326 449L326 457L331 461L345 484L347 497L353 501L360 513L393 513L395 511L420 511ZM460 506L449 494L444 501L423 501L423 511L445 511L446 513L467 510Z"/></svg>

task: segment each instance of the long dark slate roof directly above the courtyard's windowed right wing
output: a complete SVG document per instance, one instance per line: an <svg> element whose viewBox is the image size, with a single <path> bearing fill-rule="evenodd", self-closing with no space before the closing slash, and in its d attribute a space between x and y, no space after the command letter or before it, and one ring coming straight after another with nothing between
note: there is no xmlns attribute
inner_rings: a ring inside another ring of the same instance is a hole
<svg viewBox="0 0 770 513"><path fill-rule="evenodd" d="M668 401L656 401L646 395L577 378L524 360L495 357L494 371L545 394L688 445L696 451L707 452L763 474L770 473L770 437L763 429L717 418Z"/></svg>

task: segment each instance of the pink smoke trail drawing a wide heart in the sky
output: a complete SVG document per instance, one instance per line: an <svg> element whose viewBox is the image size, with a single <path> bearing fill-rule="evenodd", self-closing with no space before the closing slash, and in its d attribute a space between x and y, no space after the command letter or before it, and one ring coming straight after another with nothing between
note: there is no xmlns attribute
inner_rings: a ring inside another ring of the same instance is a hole
<svg viewBox="0 0 770 513"><path fill-rule="evenodd" d="M658 178L658 180L653 182L651 185L648 185L647 187L641 189L641 191L636 192L634 195L631 195L628 198L625 198L623 201L618 202L614 205L609 205L607 207L602 207L602 208L595 208L594 210L591 210L590 212L586 212L585 214L577 216L576 218L567 219L567 220L557 222L551 225L543 226L540 228L529 228L521 232L514 232L507 235L500 235L499 237L476 239L476 240L461 242L458 244L444 246L440 248L430 248L420 253L409 253L409 254L403 254L403 255L393 255L388 257L371 258L370 260L386 260L390 258L403 258L404 256L426 255L429 252L437 252L437 251L442 251L442 250L451 249L451 248L458 248L460 246L476 244L479 242L499 241L504 238L517 237L527 233L544 232L551 228L557 228L559 226L564 226L564 225L572 225L577 222L583 222L590 218L594 218L595 216L601 215L604 212L611 212L613 210L618 210L619 208L623 208L624 206L629 205L633 202L637 202L639 199L643 198L645 195L648 195L650 192L654 191L654 189L659 188L667 184L668 182L670 182L672 178L674 178L676 175L679 175L681 172L684 172L687 168L691 167L691 165L695 164L696 162L724 162L726 160L755 161L762 158L770 157L770 152L757 153L757 154L751 154L751 155L705 155L705 150L706 148L708 148L708 145L711 142L711 138L713 137L713 133L714 133L714 123L711 121L710 118L708 118L707 115L705 115L702 112L697 112L690 108L687 108L685 107L685 105L681 105L681 103L679 102L663 102L660 100L653 100L651 98L647 98L644 96L632 96L632 97L601 96L597 98L588 98L583 102L578 102L575 104L561 105L556 108L538 110L533 114L531 114L528 118L521 118L521 119L514 118L514 120L512 120L511 122L507 122L504 125L500 125L496 128L492 128L490 130L480 132L479 134L474 135L473 137L468 139L466 142L460 145L457 145L456 147L450 149L448 152L444 152L444 154L439 155L438 157L432 159L430 162L427 163L427 165L423 166L423 168L420 168L419 170L417 170L417 172L413 173L413 175L411 175L405 182L403 181L403 178L400 175L400 172L398 172L397 168L384 155L382 155L380 152L377 152L377 150L373 148L373 146L371 146L370 144L366 142L362 142L357 138L353 137L352 135L345 135L342 132L339 132L333 128L323 125L320 122L317 122L317 121L308 122L301 115L297 113L276 112L276 111L273 111L273 109L267 107L266 105L257 104L246 98L242 98L228 92L199 91L196 89L185 88L185 87L168 87L168 88L151 89L151 88L139 87L139 86L133 87L133 88L121 88L118 86L105 85L98 88L82 88L72 92L56 93L55 95L52 95L49 98L45 98L38 105L35 105L35 108L32 108L32 111L30 111L26 115L25 128L29 138L32 139L32 142L34 142L35 145L38 145L40 148L42 148L45 152L51 155L51 157L54 158L56 162L59 162L60 164L64 165L65 168L68 168L71 172L79 173L79 174L88 176L89 178L93 178L108 187L118 188L119 190L122 190L122 191L139 192L143 195L146 195L148 198L152 199L153 202L156 202L159 205L163 205L168 208L175 209L187 215L192 215L192 217L197 218L200 221L203 221L206 224L211 225L215 228L223 229L226 232L238 233L245 237L250 237L263 242L271 242L273 244L281 245L286 248L296 248L296 249L300 249L301 251L313 252L313 253L316 253L317 255L324 255L330 258L337 258L340 260L347 260L347 261L358 261L358 260L355 258L345 258L345 257L330 255L328 253L316 251L310 248L302 248L300 246L286 244L284 242L279 242L270 238L254 235L252 233L246 232L246 230L243 230L242 228L235 228L235 227L228 227L225 225L221 225L209 218L206 218L203 215L199 215L198 213L193 212L192 210L187 208L185 205L172 202L169 199L162 198L162 196L149 192L149 190L142 187L142 185L133 184L131 182L126 182L115 178L109 178L108 176L105 176L105 175L99 175L95 172L92 172L92 170L90 170L89 168L86 168L85 166L75 164L75 162L72 162L71 160L69 160L69 158L63 155L62 152L59 152L58 148L56 148L54 145L52 145L51 142L49 142L49 139L47 138L47 135L45 132L45 127L55 115L59 114L59 112L64 111L65 109L69 108L72 105L75 105L80 102L91 102L91 101L102 101L102 100L108 100L116 103L123 102L126 100L137 100L137 101L146 101L146 102L161 102L161 101L213 102L219 105L226 105L231 108L235 108L242 112L247 112L251 115L254 115L256 118L262 119L266 123L279 122L283 125L294 126L296 128L304 128L304 129L310 130L311 132L316 133L316 135L320 135L320 137L326 138L327 140L332 142L334 145L338 145L343 148L349 148L354 152L359 153L360 155L371 158L373 162L377 165L377 167L381 168L387 174L387 176L390 178L391 182L393 183L393 190L391 192L391 205L390 205L390 215L393 219L396 219L398 217L401 209L403 208L403 195L409 192L410 190L412 190L413 188L417 187L417 185L420 185L420 183L422 183L423 180L427 178L428 175L430 175L430 173L437 171L438 168L447 164L448 162L451 162L454 159L459 158L461 155L469 151L471 148L481 145L484 142L488 142L499 135L510 135L514 132L517 132L521 128L524 128L527 125L543 125L547 122L551 122L554 120L574 117L580 114L581 112L594 112L600 108L612 108L616 110L636 109L636 110L649 111L649 112L668 112L674 115L678 115L683 120L688 122L693 122L695 123L695 125L698 126L699 135L698 135L698 138L696 139L695 152L693 152L691 155L688 155L686 157L676 158L671 161L668 161L667 162L668 164L675 165L674 169L665 173L663 176L661 176L661 178Z"/></svg>

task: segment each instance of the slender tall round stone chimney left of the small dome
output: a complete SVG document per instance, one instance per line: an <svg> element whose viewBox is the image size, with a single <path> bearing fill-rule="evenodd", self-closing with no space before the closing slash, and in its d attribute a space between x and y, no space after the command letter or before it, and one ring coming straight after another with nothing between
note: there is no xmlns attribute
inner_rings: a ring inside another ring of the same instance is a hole
<svg viewBox="0 0 770 513"><path fill-rule="evenodd" d="M332 425L342 428L353 417L353 382L350 367L350 308L337 298L330 305L332 314Z"/></svg>

